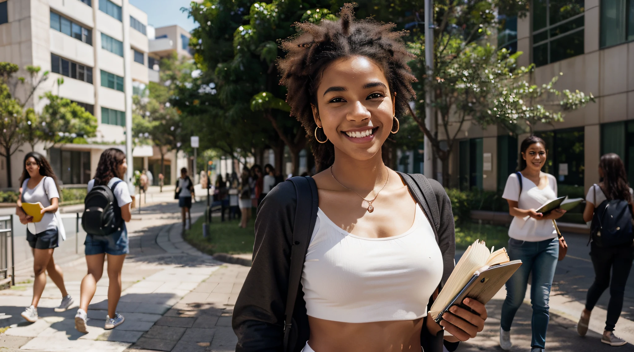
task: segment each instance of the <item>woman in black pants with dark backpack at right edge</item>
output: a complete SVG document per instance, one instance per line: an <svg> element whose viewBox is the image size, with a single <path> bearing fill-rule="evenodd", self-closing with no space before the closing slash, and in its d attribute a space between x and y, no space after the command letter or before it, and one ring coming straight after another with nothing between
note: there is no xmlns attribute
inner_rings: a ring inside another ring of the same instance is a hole
<svg viewBox="0 0 634 352"><path fill-rule="evenodd" d="M598 165L598 174L603 181L598 185L593 185L588 190L583 220L586 222L592 221L595 209L599 207L605 209L608 205L612 207L618 205L618 202L615 203L614 200L622 202L624 211L627 203L629 203L630 209L627 212L630 212L631 215L632 189L628 185L625 166L619 155L615 153L603 155ZM603 204L604 202L605 204ZM627 212L621 213L621 216L616 216L616 218L630 221ZM586 335L592 308L597 304L605 289L610 287L610 302L607 305L607 319L605 320L605 330L601 342L611 346L623 346L627 341L614 335L614 326L619 320L621 309L623 308L625 284L630 275L632 260L634 260L634 243L631 241L631 236L629 239L626 237L625 241L619 242L618 245L602 245L597 242L600 241L593 240L590 247L590 258L595 270L595 280L590 289L588 289L586 308L581 312L581 318L579 318L579 323L577 324L577 332L581 336Z"/></svg>

